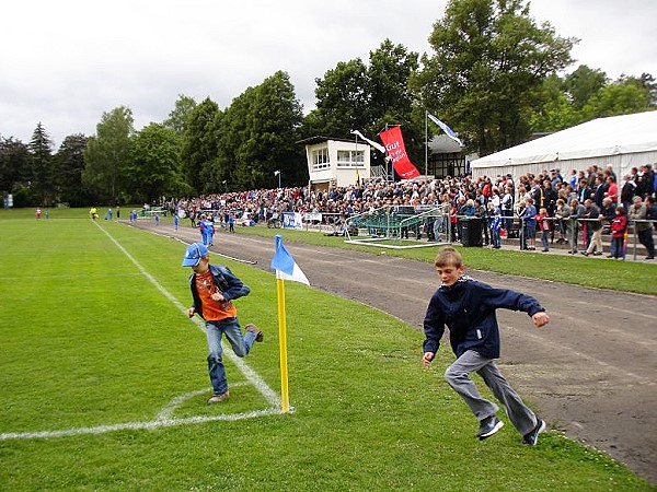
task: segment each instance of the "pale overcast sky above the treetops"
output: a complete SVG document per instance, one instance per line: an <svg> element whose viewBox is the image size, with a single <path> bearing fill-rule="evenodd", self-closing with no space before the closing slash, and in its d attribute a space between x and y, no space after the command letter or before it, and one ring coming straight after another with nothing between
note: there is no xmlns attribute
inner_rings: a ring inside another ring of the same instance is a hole
<svg viewBox="0 0 657 492"><path fill-rule="evenodd" d="M178 94L221 108L277 70L304 112L315 78L389 37L430 52L447 0L8 0L0 17L0 136L27 143L41 121L55 143L95 134L128 106L140 130ZM531 15L577 37L576 65L657 77L655 0L533 0ZM429 108L430 109L430 108ZM453 124L451 124L453 126Z"/></svg>

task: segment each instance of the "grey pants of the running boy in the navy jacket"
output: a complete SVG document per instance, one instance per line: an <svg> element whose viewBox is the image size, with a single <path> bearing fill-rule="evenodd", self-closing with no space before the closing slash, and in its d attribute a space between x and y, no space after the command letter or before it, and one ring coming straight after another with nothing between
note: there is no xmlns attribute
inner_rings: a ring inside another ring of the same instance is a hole
<svg viewBox="0 0 657 492"><path fill-rule="evenodd" d="M456 360L445 372L445 378L449 385L461 395L472 413L481 421L486 417L497 413L499 407L483 398L475 384L470 378L471 373L477 373L491 388L506 410L506 413L520 432L525 435L530 432L538 422L534 413L527 408L520 396L509 386L493 359L486 359L473 350L466 351Z"/></svg>

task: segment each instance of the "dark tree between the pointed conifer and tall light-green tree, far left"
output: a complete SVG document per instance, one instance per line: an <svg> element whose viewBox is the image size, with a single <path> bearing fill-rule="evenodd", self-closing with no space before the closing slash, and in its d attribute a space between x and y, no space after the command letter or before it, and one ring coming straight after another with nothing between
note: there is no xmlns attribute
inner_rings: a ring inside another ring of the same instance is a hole
<svg viewBox="0 0 657 492"><path fill-rule="evenodd" d="M89 204L89 196L82 186L87 142L88 138L82 133L69 134L55 154L55 185L58 199L71 207Z"/></svg>

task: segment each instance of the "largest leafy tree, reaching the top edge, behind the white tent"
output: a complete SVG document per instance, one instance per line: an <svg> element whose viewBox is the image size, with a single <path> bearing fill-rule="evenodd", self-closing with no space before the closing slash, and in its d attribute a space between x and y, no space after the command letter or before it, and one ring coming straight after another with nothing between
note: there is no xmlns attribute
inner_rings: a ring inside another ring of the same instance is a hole
<svg viewBox="0 0 657 492"><path fill-rule="evenodd" d="M574 43L548 22L537 25L522 0L451 0L415 86L427 108L486 155L528 138L535 92L572 62Z"/></svg>

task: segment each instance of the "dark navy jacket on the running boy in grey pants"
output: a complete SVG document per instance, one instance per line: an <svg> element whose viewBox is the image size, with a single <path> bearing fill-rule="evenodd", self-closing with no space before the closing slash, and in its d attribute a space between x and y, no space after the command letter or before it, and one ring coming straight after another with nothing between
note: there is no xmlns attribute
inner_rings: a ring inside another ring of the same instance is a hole
<svg viewBox="0 0 657 492"><path fill-rule="evenodd" d="M495 309L522 311L530 316L545 311L530 295L494 289L469 277L441 285L431 296L424 320L424 352L438 352L445 327L457 356L474 350L488 359L499 358L499 327Z"/></svg>

